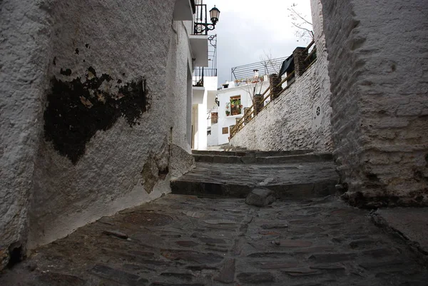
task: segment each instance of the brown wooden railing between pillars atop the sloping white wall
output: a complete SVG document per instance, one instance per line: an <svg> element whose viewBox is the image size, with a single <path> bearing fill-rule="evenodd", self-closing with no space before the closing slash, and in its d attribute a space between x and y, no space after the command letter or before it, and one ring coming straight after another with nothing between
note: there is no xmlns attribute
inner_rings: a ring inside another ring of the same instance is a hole
<svg viewBox="0 0 428 286"><path fill-rule="evenodd" d="M310 47L315 44L315 42L312 40L310 42L310 44L305 48L305 50L303 51L303 53L307 53L307 51L309 51ZM305 71L307 71L308 68L310 68L310 66L312 66L312 63L315 62L316 58L314 58L311 61L311 58L314 57L314 55L316 55L316 51L317 48L314 47L312 48L312 51L307 55L307 57L305 58L304 62L308 63L307 68L305 69ZM282 87L282 84L285 83L286 81L289 81L293 76L295 76L295 71L292 71L291 73L289 73L284 79L282 79L282 81L280 83L278 83L275 87L279 88ZM294 83L294 81L292 81L292 83ZM287 88L289 88L292 83L287 84L287 86L285 86L285 88L282 88L282 90L276 95L275 98L279 97L282 93L284 93L284 91L287 90ZM262 93L261 96L258 96L258 98L255 98L254 101L258 101L258 104L255 104L253 102L253 105L250 106L250 108L245 108L247 109L247 111L244 112L243 117L241 117L235 124L235 126L233 126L233 128L230 128L230 138L233 138L233 136L236 135L236 133L238 133L241 129L244 128L245 124L248 124L251 120L253 120L253 118L255 118L255 116L258 116L258 113L260 113L260 111L263 111L263 109L271 102L267 103L266 105L264 105L265 101L267 100L267 98L269 98L272 94L270 92L271 86L269 86L268 88L266 88L266 90ZM263 99L261 99L263 97ZM257 107L260 107L261 105L262 108L260 108L260 111L257 110Z"/></svg>

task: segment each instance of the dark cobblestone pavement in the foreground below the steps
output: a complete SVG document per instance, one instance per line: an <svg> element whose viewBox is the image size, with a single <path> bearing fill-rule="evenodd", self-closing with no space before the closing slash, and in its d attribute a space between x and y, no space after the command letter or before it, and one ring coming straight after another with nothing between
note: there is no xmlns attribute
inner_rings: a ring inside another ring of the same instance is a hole
<svg viewBox="0 0 428 286"><path fill-rule="evenodd" d="M406 245L336 198L163 198L79 228L0 285L428 285Z"/></svg>

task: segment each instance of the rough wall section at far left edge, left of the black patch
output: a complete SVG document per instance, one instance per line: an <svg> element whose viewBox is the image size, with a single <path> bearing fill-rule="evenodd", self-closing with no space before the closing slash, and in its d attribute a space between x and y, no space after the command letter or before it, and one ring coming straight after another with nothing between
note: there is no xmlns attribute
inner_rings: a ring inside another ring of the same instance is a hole
<svg viewBox="0 0 428 286"><path fill-rule="evenodd" d="M43 123L49 23L36 1L0 2L0 269L28 234L29 195Z"/></svg>

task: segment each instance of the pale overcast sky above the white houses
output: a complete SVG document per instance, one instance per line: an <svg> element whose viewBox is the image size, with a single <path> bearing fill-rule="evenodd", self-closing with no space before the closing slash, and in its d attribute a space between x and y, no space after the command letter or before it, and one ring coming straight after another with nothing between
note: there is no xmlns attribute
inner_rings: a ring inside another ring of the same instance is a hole
<svg viewBox="0 0 428 286"><path fill-rule="evenodd" d="M272 58L290 56L297 46L307 46L295 36L287 8L293 3L312 21L310 0L204 0L208 11L220 10L217 34L218 85L230 81L230 68L260 61L265 52ZM209 18L209 14L208 14ZM297 41L298 40L298 41Z"/></svg>

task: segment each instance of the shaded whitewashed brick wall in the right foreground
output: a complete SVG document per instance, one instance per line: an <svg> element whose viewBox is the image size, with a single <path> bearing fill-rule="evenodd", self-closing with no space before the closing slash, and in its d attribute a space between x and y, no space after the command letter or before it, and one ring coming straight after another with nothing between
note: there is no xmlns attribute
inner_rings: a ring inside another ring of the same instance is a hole
<svg viewBox="0 0 428 286"><path fill-rule="evenodd" d="M322 5L345 198L365 207L427 205L427 4Z"/></svg>

